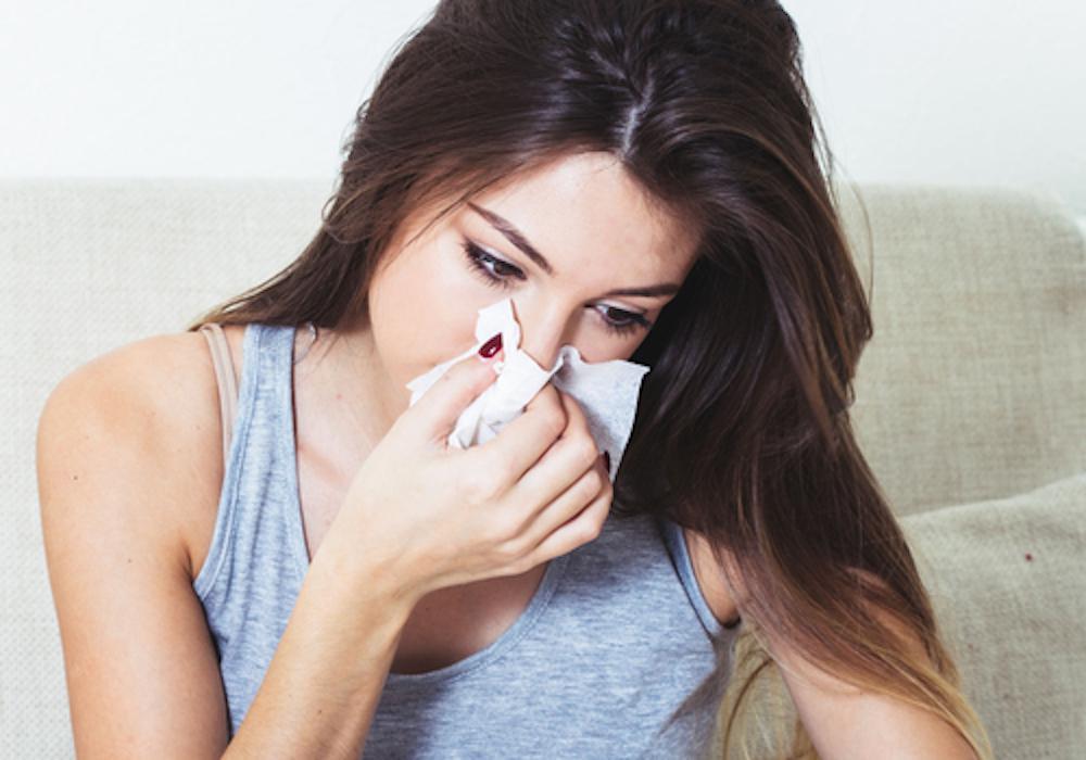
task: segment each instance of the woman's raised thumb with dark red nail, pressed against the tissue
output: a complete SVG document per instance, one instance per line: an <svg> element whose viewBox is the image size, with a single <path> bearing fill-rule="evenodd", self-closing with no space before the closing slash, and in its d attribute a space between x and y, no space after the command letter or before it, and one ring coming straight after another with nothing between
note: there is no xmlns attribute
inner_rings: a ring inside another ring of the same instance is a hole
<svg viewBox="0 0 1086 760"><path fill-rule="evenodd" d="M503 351L490 358L472 353L452 365L407 410L409 427L418 436L444 447L459 416L497 378L494 364L504 356Z"/></svg>

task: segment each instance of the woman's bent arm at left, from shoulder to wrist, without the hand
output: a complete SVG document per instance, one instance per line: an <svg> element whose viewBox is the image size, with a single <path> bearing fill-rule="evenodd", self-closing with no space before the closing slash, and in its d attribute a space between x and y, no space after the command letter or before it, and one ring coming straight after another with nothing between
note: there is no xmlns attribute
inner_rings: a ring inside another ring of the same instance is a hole
<svg viewBox="0 0 1086 760"><path fill-rule="evenodd" d="M207 433L190 428L213 429L192 400L206 396L217 415L216 400L199 385L205 378L190 382L199 362L176 358L153 339L85 365L53 390L38 423L77 755L357 758L412 605L389 585L394 573L357 558L352 572L367 582L346 583L324 546L227 746L222 676L179 528L204 498L191 452Z"/></svg>

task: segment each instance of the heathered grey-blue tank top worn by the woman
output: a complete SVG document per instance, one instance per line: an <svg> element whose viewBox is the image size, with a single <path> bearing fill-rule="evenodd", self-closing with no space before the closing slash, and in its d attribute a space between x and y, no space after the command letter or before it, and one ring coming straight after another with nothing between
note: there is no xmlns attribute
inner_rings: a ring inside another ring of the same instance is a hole
<svg viewBox="0 0 1086 760"><path fill-rule="evenodd" d="M244 333L233 434L207 559L193 581L218 654L230 736L256 695L308 569L293 429L294 328ZM365 758L698 758L737 629L698 588L681 529L611 512L553 559L484 649L390 673Z"/></svg>

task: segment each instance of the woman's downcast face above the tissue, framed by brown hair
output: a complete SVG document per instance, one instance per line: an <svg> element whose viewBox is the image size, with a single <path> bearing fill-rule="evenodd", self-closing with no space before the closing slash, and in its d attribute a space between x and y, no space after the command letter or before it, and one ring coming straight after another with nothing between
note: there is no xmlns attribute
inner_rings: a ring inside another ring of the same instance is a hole
<svg viewBox="0 0 1086 760"><path fill-rule="evenodd" d="M691 230L606 153L478 194L400 248L422 224L404 226L369 291L370 350L404 407L404 384L473 346L479 309L505 297L541 367L566 343L585 362L628 359L693 265ZM634 290L649 292L621 292Z"/></svg>

